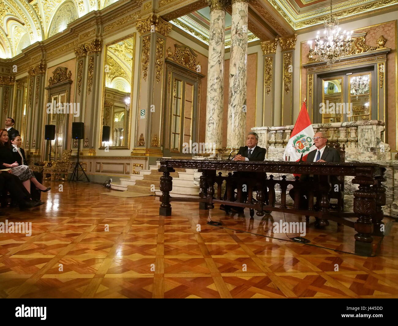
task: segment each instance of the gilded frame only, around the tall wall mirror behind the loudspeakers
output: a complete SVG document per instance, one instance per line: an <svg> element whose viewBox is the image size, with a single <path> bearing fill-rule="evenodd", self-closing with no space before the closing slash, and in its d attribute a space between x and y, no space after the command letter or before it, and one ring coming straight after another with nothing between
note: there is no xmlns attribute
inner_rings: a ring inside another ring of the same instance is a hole
<svg viewBox="0 0 398 326"><path fill-rule="evenodd" d="M104 53L104 57L103 57L103 61L102 61L102 63L103 63L102 64L102 66L103 66L103 78L102 79L103 80L102 80L102 97L101 97L100 137L98 139L98 149L105 149L105 148L120 149L120 150L122 150L122 149L130 149L131 119L132 119L132 116L133 116L133 113L132 113L132 111L133 111L133 108L132 108L133 107L133 87L134 87L134 78L135 78L135 75L134 75L134 72L135 72L134 71L134 69L135 69L135 55L136 55L136 53L135 53L136 46L135 45L136 45L136 41L137 41L136 34L137 33L134 32L134 33L131 33L129 35L123 36L123 37L121 37L121 38L119 38L119 39L117 39L115 41L112 41L112 42L109 42L109 43L105 44L105 53ZM104 102L105 102L105 79L106 79L106 76L105 76L105 74L106 74L105 65L106 65L106 62L107 62L108 47L113 45L113 44L116 44L118 42L124 41L126 39L131 39L131 38L133 38L133 54L132 54L133 58L132 58L132 64L131 64L130 114L129 114L129 121L128 121L128 126L127 126L127 131L128 131L127 143L124 146L103 146L101 140L102 140L102 127L103 127L104 109L105 109L105 105L104 105Z"/></svg>

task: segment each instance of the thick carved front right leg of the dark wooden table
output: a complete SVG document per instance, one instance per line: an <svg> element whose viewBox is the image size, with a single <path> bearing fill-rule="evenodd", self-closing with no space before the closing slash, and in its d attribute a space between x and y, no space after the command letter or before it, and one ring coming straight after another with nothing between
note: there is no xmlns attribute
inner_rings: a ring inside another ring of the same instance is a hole
<svg viewBox="0 0 398 326"><path fill-rule="evenodd" d="M376 193L372 191L371 185L376 181L370 177L357 176L351 182L359 184L359 190L354 191L354 212L358 217L354 224L354 229L358 232L354 236L355 254L371 256L373 242L371 217L377 212Z"/></svg>

